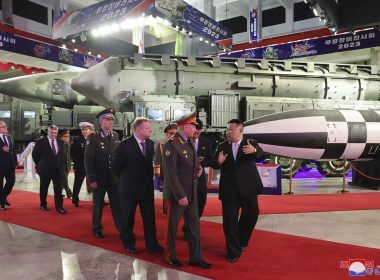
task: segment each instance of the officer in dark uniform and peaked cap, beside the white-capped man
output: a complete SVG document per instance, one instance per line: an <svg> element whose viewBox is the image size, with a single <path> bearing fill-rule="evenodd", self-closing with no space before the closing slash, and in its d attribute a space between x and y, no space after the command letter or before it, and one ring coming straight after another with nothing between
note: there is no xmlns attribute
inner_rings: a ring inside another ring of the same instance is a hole
<svg viewBox="0 0 380 280"><path fill-rule="evenodd" d="M118 179L111 170L119 135L112 131L115 110L105 109L96 117L101 128L90 135L84 151L86 176L93 190L92 232L95 237L103 238L101 224L104 196L107 192L115 226L120 230L120 201Z"/></svg>

